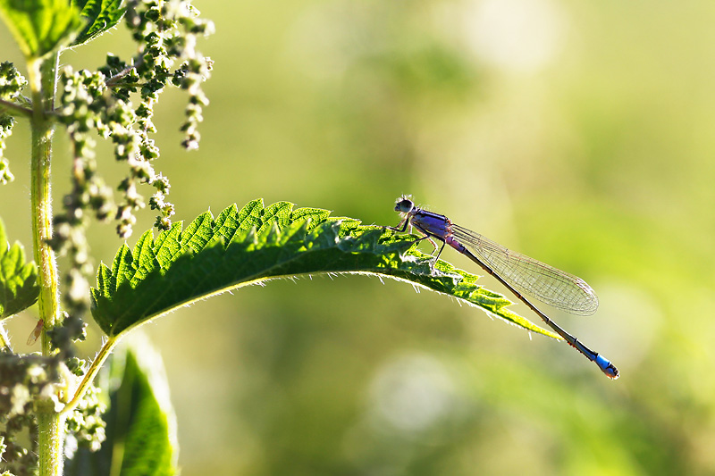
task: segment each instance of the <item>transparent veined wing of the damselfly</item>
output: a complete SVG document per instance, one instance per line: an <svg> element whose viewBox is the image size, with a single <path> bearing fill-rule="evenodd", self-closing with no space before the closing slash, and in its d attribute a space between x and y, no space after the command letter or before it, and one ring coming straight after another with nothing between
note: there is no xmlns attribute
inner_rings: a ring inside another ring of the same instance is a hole
<svg viewBox="0 0 715 476"><path fill-rule="evenodd" d="M591 315L598 296L585 280L529 256L511 251L479 233L452 225L454 238L467 246L511 286L568 313Z"/></svg>

